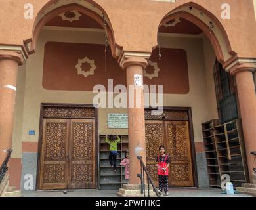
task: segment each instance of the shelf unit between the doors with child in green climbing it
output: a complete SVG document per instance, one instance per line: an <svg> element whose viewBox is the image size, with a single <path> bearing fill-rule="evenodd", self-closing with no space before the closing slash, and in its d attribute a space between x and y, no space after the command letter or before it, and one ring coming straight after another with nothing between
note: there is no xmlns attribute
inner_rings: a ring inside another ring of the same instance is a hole
<svg viewBox="0 0 256 210"><path fill-rule="evenodd" d="M128 136L118 135L121 142L117 144L117 163L116 173L113 173L113 168L110 167L108 156L110 153L109 144L105 142L106 135L100 135L98 148L98 183L100 190L118 190L123 184L127 184L125 180L125 168L120 166L121 161L125 158L125 152L128 150Z"/></svg>

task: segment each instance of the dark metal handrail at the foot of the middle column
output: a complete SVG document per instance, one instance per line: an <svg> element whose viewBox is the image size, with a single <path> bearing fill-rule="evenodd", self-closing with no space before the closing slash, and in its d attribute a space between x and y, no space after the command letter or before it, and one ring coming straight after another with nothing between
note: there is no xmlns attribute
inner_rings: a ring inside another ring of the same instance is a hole
<svg viewBox="0 0 256 210"><path fill-rule="evenodd" d="M150 197L150 184L153 187L154 192L156 193L156 196L160 197L158 190L156 189L156 186L154 185L152 178L150 177L150 174L148 173L148 170L146 169L146 165L142 161L141 156L137 156L137 159L140 161L140 174L137 176L140 177L141 182L141 194L144 194L144 197L146 197L146 190L145 190L145 173L148 181L148 197Z"/></svg>

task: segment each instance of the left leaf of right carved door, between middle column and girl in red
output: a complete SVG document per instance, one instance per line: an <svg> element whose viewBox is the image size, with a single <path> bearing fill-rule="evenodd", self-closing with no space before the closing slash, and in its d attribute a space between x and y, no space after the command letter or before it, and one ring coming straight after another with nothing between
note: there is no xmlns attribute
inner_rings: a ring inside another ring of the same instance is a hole
<svg viewBox="0 0 256 210"><path fill-rule="evenodd" d="M159 146L164 143L163 121L146 120L146 167L156 186L158 186L158 168L155 166Z"/></svg>

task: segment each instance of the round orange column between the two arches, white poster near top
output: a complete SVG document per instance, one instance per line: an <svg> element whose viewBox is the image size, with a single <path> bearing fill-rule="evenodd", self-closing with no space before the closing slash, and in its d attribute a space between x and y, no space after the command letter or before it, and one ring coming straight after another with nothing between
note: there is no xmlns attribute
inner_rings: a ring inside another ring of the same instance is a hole
<svg viewBox="0 0 256 210"><path fill-rule="evenodd" d="M144 118L143 70L147 60L144 58L127 58L123 63L127 77L127 101L129 119L129 184L140 184L137 174L140 173L142 156L146 164L146 140ZM142 79L142 83L135 85L135 77ZM133 99L133 100L132 100Z"/></svg>

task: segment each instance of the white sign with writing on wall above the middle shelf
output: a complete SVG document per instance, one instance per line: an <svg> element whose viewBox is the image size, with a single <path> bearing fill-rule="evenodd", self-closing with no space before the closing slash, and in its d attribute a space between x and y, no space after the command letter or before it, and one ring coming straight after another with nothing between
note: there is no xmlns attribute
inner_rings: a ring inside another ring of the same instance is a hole
<svg viewBox="0 0 256 210"><path fill-rule="evenodd" d="M108 114L109 129L127 129L128 114L110 113Z"/></svg>

